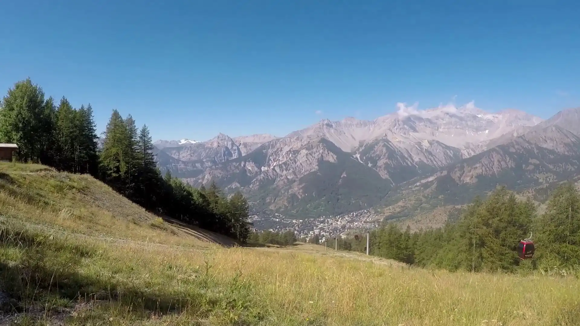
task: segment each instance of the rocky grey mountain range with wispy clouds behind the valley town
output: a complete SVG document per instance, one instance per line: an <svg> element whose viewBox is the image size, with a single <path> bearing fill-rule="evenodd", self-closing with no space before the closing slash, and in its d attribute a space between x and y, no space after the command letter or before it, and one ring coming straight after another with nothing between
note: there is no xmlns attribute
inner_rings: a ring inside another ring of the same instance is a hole
<svg viewBox="0 0 580 326"><path fill-rule="evenodd" d="M575 178L580 109L543 120L467 103L372 121L322 119L284 137L158 140L162 171L193 186L241 190L255 209L318 218L375 208L387 219L463 205L505 184L524 191Z"/></svg>

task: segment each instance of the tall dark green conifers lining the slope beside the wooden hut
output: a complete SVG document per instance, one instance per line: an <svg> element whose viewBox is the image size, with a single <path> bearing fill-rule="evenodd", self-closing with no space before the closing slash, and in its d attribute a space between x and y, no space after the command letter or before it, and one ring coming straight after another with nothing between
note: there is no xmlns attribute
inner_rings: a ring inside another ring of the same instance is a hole
<svg viewBox="0 0 580 326"><path fill-rule="evenodd" d="M88 173L142 207L240 240L248 240L248 202L241 193L229 198L215 183L196 189L161 175L146 125L137 128L128 115L113 110L97 147L90 104L74 108L66 97L56 102L28 78L8 90L0 103L0 142L16 143L16 160Z"/></svg>

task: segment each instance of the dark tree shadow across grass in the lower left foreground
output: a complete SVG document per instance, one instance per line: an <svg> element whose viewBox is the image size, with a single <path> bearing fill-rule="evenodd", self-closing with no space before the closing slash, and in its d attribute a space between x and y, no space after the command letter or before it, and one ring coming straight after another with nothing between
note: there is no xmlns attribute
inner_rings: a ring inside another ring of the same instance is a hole
<svg viewBox="0 0 580 326"><path fill-rule="evenodd" d="M96 249L52 241L26 231L0 229L0 290L8 299L0 300L0 310L5 313L21 312L32 303L48 296L68 300L96 302L106 300L125 306L133 313L150 316L180 313L205 307L223 306L219 299L207 298L199 291L181 298L144 291L128 282L112 282L78 273L87 257L96 255ZM50 252L47 250L50 248ZM21 255L16 262L6 259L6 252L18 249ZM55 258L55 253L58 258ZM201 290L201 289L200 289ZM193 311L192 311L193 310ZM129 310L128 310L129 311ZM201 310L200 310L201 312Z"/></svg>

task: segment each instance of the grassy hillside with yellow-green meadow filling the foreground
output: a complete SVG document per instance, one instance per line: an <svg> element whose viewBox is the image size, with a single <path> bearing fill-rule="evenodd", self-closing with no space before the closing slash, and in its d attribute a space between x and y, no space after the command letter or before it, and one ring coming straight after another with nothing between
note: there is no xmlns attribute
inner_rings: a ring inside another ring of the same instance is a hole
<svg viewBox="0 0 580 326"><path fill-rule="evenodd" d="M234 241L89 176L0 164L0 324L577 325L580 281ZM171 221L169 221L171 222Z"/></svg>

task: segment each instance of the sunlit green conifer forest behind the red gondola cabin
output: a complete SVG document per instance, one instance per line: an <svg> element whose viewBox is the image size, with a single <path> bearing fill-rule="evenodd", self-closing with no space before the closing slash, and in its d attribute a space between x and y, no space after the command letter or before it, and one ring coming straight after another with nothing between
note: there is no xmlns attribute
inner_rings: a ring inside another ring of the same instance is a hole
<svg viewBox="0 0 580 326"><path fill-rule="evenodd" d="M520 260L517 245L532 236L533 259ZM476 198L456 222L411 233L394 223L370 232L370 254L419 267L451 271L580 269L580 193L572 183L561 184L538 214L530 198L519 200L499 186L485 200ZM329 241L334 247L334 240ZM366 236L339 238L339 249L365 252Z"/></svg>

